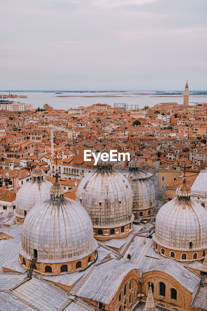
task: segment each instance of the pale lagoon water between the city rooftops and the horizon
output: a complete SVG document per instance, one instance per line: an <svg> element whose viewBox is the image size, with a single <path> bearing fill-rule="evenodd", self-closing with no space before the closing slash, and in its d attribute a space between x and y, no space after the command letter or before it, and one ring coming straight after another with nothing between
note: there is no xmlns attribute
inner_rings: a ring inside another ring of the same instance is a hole
<svg viewBox="0 0 207 311"><path fill-rule="evenodd" d="M10 91L11 94L24 95L28 98L18 98L16 101L21 103L33 104L34 108L42 108L44 104L52 106L54 109L69 109L79 106L90 106L92 104L101 103L109 104L112 107L114 103L126 103L130 105L138 105L144 108L148 105L155 106L158 103L177 102L183 103L183 95L158 95L156 91ZM161 91L162 92L162 91ZM174 91L165 91L174 92ZM180 92L180 91L177 91ZM8 91L0 91L0 94L8 94ZM69 96L69 97L58 97ZM15 99L11 99L14 100ZM189 104L207 103L207 95L189 95Z"/></svg>

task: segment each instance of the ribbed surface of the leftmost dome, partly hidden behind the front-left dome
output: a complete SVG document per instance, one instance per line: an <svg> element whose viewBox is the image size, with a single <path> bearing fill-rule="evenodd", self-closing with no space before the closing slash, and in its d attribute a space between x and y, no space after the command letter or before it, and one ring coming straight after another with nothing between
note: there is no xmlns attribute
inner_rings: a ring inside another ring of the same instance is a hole
<svg viewBox="0 0 207 311"><path fill-rule="evenodd" d="M25 183L16 195L15 215L25 217L25 211L30 209L38 202L50 198L50 188L53 184L46 179L35 179Z"/></svg>

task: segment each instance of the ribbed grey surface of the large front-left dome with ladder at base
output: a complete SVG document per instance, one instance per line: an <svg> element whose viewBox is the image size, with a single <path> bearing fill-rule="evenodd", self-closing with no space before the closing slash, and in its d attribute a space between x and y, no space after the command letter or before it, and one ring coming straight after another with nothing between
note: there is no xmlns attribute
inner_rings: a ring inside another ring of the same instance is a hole
<svg viewBox="0 0 207 311"><path fill-rule="evenodd" d="M34 206L22 228L20 253L38 262L70 262L91 254L97 247L89 215L76 201L47 199Z"/></svg>

